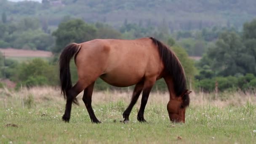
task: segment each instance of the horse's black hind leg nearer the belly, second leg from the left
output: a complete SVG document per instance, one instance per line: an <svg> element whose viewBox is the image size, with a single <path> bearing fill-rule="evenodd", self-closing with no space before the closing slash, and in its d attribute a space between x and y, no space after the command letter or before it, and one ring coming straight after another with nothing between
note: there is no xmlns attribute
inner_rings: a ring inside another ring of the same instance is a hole
<svg viewBox="0 0 256 144"><path fill-rule="evenodd" d="M89 85L87 88L85 88L85 91L83 93L83 102L85 103L85 107L89 113L89 116L91 118L91 122L92 123L101 123L97 117L95 116L94 112L93 112L93 108L91 107L91 98L93 95L93 86L94 83L91 83L91 85Z"/></svg>

